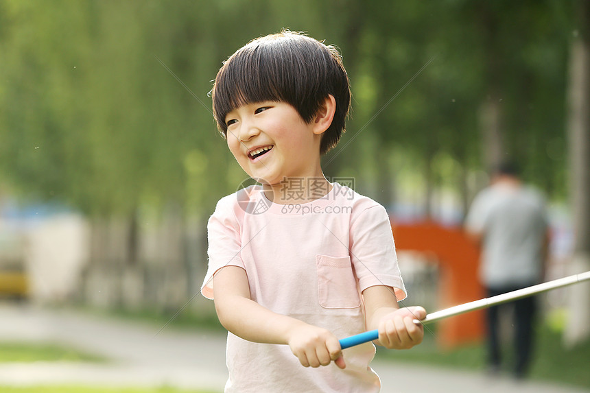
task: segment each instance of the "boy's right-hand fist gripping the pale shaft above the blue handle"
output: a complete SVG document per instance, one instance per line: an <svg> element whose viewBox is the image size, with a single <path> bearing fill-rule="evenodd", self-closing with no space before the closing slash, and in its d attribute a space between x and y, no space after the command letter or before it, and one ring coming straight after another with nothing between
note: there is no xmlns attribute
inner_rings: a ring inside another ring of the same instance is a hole
<svg viewBox="0 0 590 393"><path fill-rule="evenodd" d="M423 307L407 307L386 314L379 321L379 344L390 349L409 349L420 344L424 326L413 321L425 317Z"/></svg>

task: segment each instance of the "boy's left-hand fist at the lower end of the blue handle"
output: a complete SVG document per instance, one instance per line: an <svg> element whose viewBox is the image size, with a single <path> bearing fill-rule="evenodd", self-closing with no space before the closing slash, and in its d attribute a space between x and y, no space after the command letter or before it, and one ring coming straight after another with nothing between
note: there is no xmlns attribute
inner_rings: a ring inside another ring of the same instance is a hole
<svg viewBox="0 0 590 393"><path fill-rule="evenodd" d="M294 329L288 344L302 366L328 366L334 361L336 366L346 367L338 338L326 329L305 324Z"/></svg>

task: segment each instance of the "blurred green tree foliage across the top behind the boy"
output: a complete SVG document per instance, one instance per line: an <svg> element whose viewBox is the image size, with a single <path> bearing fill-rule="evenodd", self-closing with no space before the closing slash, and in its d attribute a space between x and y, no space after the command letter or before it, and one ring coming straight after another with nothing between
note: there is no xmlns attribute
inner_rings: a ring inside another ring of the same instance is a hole
<svg viewBox="0 0 590 393"><path fill-rule="evenodd" d="M440 154L482 167L477 112L500 97L508 153L563 197L572 19L550 0L0 0L0 182L95 215L210 212L246 178L215 130L211 80L235 49L287 27L338 45L351 77L328 176L373 178L400 146L413 167Z"/></svg>

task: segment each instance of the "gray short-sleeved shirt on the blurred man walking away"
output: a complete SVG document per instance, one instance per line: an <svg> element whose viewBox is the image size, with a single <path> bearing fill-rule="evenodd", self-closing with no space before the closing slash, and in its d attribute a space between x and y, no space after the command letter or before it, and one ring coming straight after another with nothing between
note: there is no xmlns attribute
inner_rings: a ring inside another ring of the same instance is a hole
<svg viewBox="0 0 590 393"><path fill-rule="evenodd" d="M482 234L480 278L488 287L541 281L547 231L545 200L538 191L499 182L471 205L467 230Z"/></svg>

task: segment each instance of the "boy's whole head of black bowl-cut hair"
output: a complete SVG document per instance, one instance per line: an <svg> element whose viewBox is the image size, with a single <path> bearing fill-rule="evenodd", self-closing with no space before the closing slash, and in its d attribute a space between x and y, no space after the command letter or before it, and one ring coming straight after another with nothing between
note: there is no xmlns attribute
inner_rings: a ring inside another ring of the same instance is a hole
<svg viewBox="0 0 590 393"><path fill-rule="evenodd" d="M310 123L328 95L335 98L336 109L322 135L320 154L334 147L344 132L351 105L349 78L338 49L289 30L256 38L238 49L224 62L211 90L213 115L224 137L225 117L239 106L285 102Z"/></svg>

